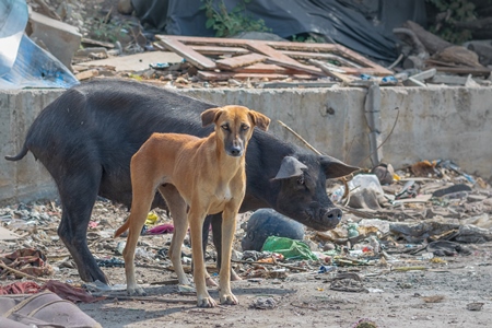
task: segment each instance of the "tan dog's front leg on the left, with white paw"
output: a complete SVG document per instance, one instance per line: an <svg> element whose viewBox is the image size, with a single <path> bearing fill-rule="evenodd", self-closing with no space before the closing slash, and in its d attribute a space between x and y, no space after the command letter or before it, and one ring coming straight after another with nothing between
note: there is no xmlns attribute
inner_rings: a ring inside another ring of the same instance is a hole
<svg viewBox="0 0 492 328"><path fill-rule="evenodd" d="M194 260L194 281L197 288L197 301L199 307L214 307L215 301L207 291L206 284L206 266L203 260L203 246L201 244L201 233L203 227L203 220L207 211L197 210L194 206L188 212L188 222L191 234L191 256Z"/></svg>

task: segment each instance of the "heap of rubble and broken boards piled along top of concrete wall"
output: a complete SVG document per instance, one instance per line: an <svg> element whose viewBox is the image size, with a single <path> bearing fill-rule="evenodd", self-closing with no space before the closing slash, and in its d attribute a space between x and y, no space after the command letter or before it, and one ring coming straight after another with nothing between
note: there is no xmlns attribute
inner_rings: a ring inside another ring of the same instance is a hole
<svg viewBox="0 0 492 328"><path fill-rule="evenodd" d="M289 42L276 35L271 40L270 33L255 33L256 39L247 39L247 35L241 39L150 35L137 17L128 15L131 10L119 8L128 1L119 2L117 9L107 3L92 8L84 2L30 1L37 13L30 17L34 28L30 36L66 63L80 81L120 77L174 87L491 84L488 42L452 44L412 21L394 30L400 56L383 65L339 44ZM45 17L43 23L39 16ZM455 27L477 32L480 20L487 19L456 23ZM79 33L71 32L71 27ZM50 31L50 40L43 37L45 30ZM57 37L73 47L57 49Z"/></svg>

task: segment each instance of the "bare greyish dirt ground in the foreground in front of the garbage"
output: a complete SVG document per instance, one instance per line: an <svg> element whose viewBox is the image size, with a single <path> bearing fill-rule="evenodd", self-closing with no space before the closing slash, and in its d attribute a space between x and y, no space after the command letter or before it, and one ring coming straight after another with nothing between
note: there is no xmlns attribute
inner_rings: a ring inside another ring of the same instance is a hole
<svg viewBox="0 0 492 328"><path fill-rule="evenodd" d="M363 318L373 321L374 327L490 327L491 247L492 244L480 245L471 256L447 259L445 266L431 266L425 271L355 268L353 271L363 277L368 293L333 291L329 289L332 274L306 272L290 274L284 280L233 282L233 292L239 300L237 306L203 309L192 304L117 298L79 306L108 328L355 327ZM105 272L114 282L124 283L122 269ZM171 273L156 269L140 268L137 272L147 282L172 278ZM176 285L145 290L161 298L195 300L179 295ZM218 298L215 289L211 295ZM260 298L273 298L277 306L255 308ZM470 303L482 303L483 308L469 311Z"/></svg>

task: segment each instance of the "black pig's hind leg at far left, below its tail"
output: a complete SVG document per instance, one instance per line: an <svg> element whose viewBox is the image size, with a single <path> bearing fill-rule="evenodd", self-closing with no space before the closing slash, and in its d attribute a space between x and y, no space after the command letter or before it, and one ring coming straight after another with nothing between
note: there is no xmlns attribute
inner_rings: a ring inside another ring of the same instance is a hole
<svg viewBox="0 0 492 328"><path fill-rule="evenodd" d="M62 176L57 180L62 211L58 235L75 261L83 281L99 280L108 283L87 247L87 225L97 197L102 169L101 167L85 168L78 173L54 175Z"/></svg>

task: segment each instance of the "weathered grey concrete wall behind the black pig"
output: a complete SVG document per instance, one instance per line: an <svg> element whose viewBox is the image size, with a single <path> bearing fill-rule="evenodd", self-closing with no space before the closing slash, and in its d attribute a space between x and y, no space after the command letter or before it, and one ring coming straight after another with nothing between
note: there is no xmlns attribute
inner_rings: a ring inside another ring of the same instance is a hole
<svg viewBox="0 0 492 328"><path fill-rule="evenodd" d="M365 89L183 90L219 105L241 104L272 119L270 131L303 144L282 120L319 151L350 164L370 167ZM54 185L32 154L13 163L35 116L61 91L0 92L0 203L56 195ZM383 159L395 167L420 160L453 160L468 173L492 179L492 89L382 89ZM396 110L395 107L399 109Z"/></svg>

